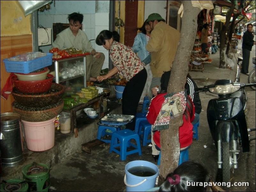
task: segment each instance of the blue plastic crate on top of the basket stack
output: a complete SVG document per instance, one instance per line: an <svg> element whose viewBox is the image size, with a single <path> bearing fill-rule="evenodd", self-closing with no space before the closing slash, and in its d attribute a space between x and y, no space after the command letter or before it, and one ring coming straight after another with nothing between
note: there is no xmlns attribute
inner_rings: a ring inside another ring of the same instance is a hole
<svg viewBox="0 0 256 192"><path fill-rule="evenodd" d="M4 59L4 66L7 72L30 73L32 71L50 66L52 64L52 53L47 53L44 57L39 57L31 61L8 61ZM19 56L19 55L18 55Z"/></svg>

